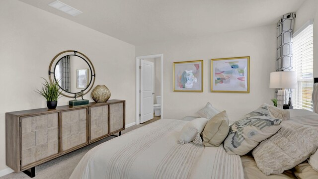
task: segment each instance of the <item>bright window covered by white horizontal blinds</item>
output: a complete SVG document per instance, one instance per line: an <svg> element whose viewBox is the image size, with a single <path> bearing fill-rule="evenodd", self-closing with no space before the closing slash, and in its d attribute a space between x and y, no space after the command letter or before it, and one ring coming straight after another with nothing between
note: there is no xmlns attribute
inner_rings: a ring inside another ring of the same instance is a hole
<svg viewBox="0 0 318 179"><path fill-rule="evenodd" d="M297 72L297 89L293 91L296 109L313 111L313 24L308 23L293 36L293 71Z"/></svg>

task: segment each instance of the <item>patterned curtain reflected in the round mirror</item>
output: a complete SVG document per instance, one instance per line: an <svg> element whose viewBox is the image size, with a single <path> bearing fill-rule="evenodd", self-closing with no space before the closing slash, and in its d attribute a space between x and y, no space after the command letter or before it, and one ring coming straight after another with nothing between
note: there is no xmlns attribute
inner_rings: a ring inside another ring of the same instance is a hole
<svg viewBox="0 0 318 179"><path fill-rule="evenodd" d="M64 90L71 91L70 57L64 57L58 65L61 74L59 84Z"/></svg>

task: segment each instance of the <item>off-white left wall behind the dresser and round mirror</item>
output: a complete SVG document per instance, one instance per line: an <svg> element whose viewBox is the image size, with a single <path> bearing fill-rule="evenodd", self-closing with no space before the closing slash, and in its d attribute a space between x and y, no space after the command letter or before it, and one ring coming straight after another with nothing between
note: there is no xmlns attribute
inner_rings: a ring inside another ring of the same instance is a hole
<svg viewBox="0 0 318 179"><path fill-rule="evenodd" d="M111 99L125 99L126 124L135 122L135 46L17 0L0 1L0 22L0 171L7 168L5 112L46 107L34 90L61 51L84 53L95 67L94 86L106 85ZM84 97L92 101L90 93Z"/></svg>

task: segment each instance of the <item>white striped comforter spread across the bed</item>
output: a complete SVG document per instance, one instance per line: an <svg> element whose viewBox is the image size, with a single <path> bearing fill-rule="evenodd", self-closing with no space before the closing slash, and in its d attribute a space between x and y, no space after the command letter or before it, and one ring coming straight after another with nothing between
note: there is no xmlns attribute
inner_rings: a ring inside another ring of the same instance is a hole
<svg viewBox="0 0 318 179"><path fill-rule="evenodd" d="M160 119L88 151L70 179L244 179L223 146L177 144L189 121Z"/></svg>

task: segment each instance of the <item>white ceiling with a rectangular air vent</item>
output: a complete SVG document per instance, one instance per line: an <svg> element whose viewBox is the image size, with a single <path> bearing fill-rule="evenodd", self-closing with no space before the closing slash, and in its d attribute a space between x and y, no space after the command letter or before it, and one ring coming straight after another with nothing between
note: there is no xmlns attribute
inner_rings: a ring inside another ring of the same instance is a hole
<svg viewBox="0 0 318 179"><path fill-rule="evenodd" d="M60 0L82 11L71 16L54 0L20 0L133 45L209 36L274 24L305 0Z"/></svg>

